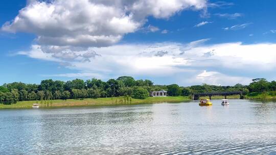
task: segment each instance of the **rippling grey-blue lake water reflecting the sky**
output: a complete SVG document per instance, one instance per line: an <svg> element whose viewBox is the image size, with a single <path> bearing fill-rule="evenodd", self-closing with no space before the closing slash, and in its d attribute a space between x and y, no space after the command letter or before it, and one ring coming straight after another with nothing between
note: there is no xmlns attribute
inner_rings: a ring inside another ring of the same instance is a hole
<svg viewBox="0 0 276 155"><path fill-rule="evenodd" d="M274 154L276 104L0 110L0 154Z"/></svg>

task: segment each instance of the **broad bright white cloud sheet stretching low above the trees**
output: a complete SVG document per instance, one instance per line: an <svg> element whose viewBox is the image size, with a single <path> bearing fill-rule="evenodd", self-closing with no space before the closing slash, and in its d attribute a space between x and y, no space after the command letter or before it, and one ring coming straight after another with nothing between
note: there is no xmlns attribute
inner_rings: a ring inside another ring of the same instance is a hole
<svg viewBox="0 0 276 155"><path fill-rule="evenodd" d="M230 81L233 83L244 82L245 84L248 79L254 78L247 77L248 72L270 73L276 68L274 61L276 59L274 52L276 44L244 45L241 42L204 44L208 40L202 39L187 44L167 42L89 47L86 50L73 51L78 55L73 60L55 57L55 54L43 53L39 45L32 46L30 51L21 51L19 54L62 63L67 68L79 70L80 73L97 72L102 77L116 77L126 74L158 76L170 78L170 82L178 83L180 81L179 84L182 85L201 84L203 82L230 85ZM91 51L95 51L95 53ZM83 58L86 53L92 57ZM89 61L84 61L84 59ZM221 72L221 70L227 70L227 72ZM232 74L232 72L237 71L239 72L238 75ZM60 76L66 77L69 75L60 74ZM215 78L212 79L213 76Z"/></svg>

